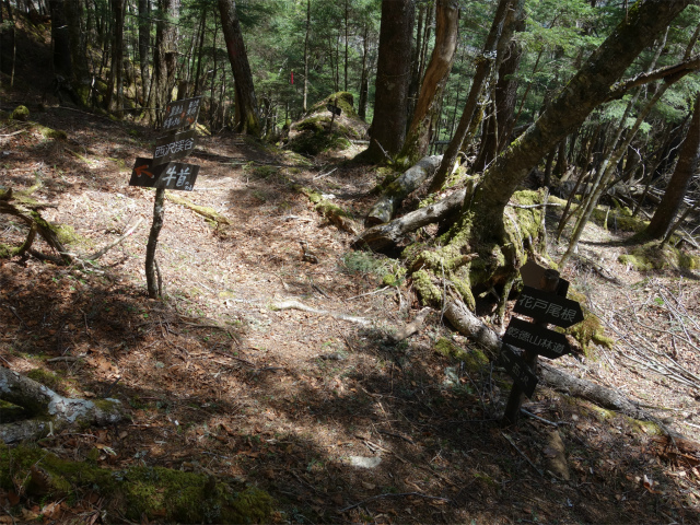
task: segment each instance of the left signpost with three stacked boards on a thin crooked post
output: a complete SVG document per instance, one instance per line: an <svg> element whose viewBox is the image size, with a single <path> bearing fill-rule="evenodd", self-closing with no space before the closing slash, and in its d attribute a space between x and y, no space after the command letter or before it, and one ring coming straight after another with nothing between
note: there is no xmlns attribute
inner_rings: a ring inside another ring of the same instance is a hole
<svg viewBox="0 0 700 525"><path fill-rule="evenodd" d="M171 102L165 108L162 131L174 131L155 141L153 159L138 158L131 171L129 186L155 188L153 224L145 247L145 281L149 298L162 295L162 277L155 260L158 236L163 228L165 190L191 191L199 174L199 166L173 162L188 156L195 149L194 129L178 130L197 121L201 97ZM158 273L158 281L156 281Z"/></svg>

